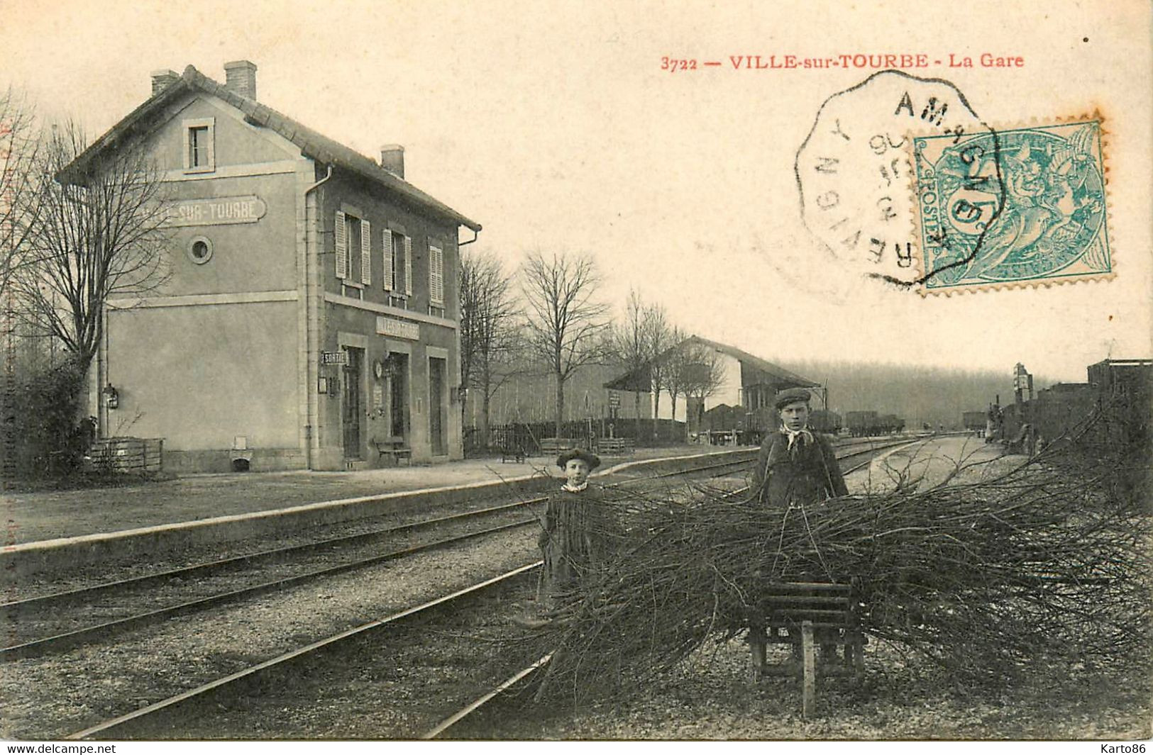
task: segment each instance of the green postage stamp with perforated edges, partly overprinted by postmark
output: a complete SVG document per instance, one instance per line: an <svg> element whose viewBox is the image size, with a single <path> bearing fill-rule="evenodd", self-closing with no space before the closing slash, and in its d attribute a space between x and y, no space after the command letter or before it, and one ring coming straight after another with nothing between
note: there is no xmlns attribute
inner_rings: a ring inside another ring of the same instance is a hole
<svg viewBox="0 0 1153 755"><path fill-rule="evenodd" d="M926 292L1108 278L1101 121L913 141Z"/></svg>

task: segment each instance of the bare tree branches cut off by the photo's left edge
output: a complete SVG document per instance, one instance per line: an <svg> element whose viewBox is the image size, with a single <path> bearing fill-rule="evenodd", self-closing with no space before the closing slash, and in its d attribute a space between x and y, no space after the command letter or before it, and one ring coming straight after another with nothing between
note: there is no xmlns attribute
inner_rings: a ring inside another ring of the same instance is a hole
<svg viewBox="0 0 1153 755"><path fill-rule="evenodd" d="M18 92L0 92L0 297L13 275L33 261L24 243L39 212L36 113Z"/></svg>

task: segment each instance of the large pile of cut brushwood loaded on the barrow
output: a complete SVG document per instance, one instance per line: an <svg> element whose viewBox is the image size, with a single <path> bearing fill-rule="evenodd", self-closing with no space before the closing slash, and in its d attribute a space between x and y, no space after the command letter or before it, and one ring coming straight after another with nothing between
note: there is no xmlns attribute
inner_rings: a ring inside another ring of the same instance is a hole
<svg viewBox="0 0 1153 755"><path fill-rule="evenodd" d="M1148 455L1126 451L1057 443L787 511L751 492L621 492L597 534L615 557L522 639L555 651L537 700L646 686L707 640L741 636L758 596L794 581L852 581L868 635L966 686L1144 658Z"/></svg>

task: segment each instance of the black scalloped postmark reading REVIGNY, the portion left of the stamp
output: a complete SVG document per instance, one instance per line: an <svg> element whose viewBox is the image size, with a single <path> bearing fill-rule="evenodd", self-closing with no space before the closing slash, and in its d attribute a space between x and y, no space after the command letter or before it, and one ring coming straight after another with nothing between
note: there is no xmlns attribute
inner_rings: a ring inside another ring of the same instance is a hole
<svg viewBox="0 0 1153 755"><path fill-rule="evenodd" d="M873 74L826 99L797 150L801 220L847 272L902 287L924 285L940 271L921 257L913 224L911 141L936 136L959 144L974 134L989 138L987 167L1000 186L996 133L956 85L899 70ZM1001 204L995 197L982 206L985 227ZM984 229L973 235L971 254L982 239Z"/></svg>

